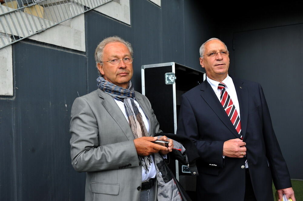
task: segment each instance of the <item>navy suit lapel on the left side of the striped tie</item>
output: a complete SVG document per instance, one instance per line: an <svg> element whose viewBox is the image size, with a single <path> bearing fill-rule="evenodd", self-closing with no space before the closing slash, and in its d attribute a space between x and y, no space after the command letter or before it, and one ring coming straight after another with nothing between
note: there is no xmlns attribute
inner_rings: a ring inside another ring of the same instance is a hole
<svg viewBox="0 0 303 201"><path fill-rule="evenodd" d="M210 84L205 80L201 83L201 96L205 100L205 102L209 105L209 107L216 113L216 115L221 119L221 121L225 124L225 126L236 136L239 138L239 134L237 133L234 125L232 125L230 119L226 115L225 110L223 109L218 97L216 96L214 90L211 88Z"/></svg>

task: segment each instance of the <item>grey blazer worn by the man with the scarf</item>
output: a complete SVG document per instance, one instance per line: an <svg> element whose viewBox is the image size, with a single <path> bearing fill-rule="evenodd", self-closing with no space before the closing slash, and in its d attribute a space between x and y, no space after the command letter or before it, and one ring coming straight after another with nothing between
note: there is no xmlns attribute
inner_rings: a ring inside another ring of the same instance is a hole
<svg viewBox="0 0 303 201"><path fill-rule="evenodd" d="M148 118L149 136L161 132L148 99L139 92L135 99ZM139 200L142 167L134 136L112 96L97 89L76 98L71 117L72 166L86 172L85 200Z"/></svg>

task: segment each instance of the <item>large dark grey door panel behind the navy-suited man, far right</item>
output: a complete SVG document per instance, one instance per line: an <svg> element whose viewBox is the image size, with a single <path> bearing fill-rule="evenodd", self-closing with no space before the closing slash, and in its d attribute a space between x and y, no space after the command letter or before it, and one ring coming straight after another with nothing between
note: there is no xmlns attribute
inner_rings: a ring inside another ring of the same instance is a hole
<svg viewBox="0 0 303 201"><path fill-rule="evenodd" d="M303 179L303 25L235 33L235 75L261 83L292 178ZM295 155L293 153L296 153Z"/></svg>

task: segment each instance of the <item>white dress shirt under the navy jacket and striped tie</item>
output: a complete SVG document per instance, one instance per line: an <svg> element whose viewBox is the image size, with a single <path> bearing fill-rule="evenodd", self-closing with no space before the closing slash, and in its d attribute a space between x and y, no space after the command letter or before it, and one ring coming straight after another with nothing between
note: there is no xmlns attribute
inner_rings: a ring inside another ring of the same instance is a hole
<svg viewBox="0 0 303 201"><path fill-rule="evenodd" d="M219 101L221 102L221 100L220 100L221 89L218 89L218 85L219 85L220 82L212 80L208 76L206 76L206 80L210 84L211 88L214 90L214 92L217 95ZM236 110L238 112L238 115L239 115L239 118L241 120L238 96L237 96L237 93L236 93L234 82L232 81L231 77L227 74L227 77L225 79L223 79L223 81L221 83L225 84L225 90L229 94L233 104L235 105L235 108L236 108ZM224 157L225 156L223 156L223 158ZM248 168L247 160L245 160L245 168Z"/></svg>

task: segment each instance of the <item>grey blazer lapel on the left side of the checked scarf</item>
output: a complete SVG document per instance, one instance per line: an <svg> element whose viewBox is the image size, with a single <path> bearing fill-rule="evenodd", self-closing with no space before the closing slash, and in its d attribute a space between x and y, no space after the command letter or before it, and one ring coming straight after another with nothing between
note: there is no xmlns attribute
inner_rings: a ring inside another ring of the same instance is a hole
<svg viewBox="0 0 303 201"><path fill-rule="evenodd" d="M112 96L103 92L101 89L98 89L99 97L103 99L102 105L108 111L108 113L112 116L118 126L122 129L128 140L134 140L134 135L131 127L129 126L124 114L120 110L119 106L112 98Z"/></svg>

